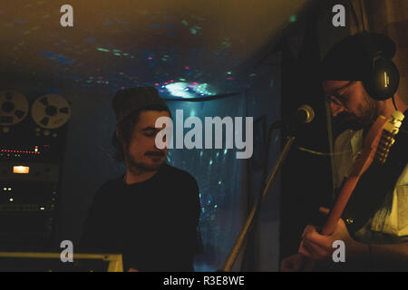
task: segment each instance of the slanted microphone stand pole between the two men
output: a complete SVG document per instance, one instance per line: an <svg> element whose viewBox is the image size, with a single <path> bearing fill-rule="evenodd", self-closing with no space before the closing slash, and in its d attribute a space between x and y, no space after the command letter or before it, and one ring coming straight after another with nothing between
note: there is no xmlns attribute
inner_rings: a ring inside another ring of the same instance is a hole
<svg viewBox="0 0 408 290"><path fill-rule="evenodd" d="M262 206L263 201L267 197L267 190L270 188L272 185L272 182L277 176L277 172L281 168L283 162L287 158L287 153L289 152L293 142L295 141L296 137L295 136L289 136L287 137L287 141L285 143L285 146L283 150L280 152L279 157L277 158L277 163L275 164L275 168L272 170L272 173L269 175L269 178L267 179L267 184L262 191L262 194L257 198L254 206L252 207L247 221L245 222L244 227L241 229L241 232L239 233L239 236L237 237L234 247L232 247L231 251L229 252L228 258L222 267L221 271L223 272L229 272L234 265L235 261L237 260L237 257L239 255L239 252L241 251L242 246L244 245L244 242L246 241L248 237L248 233L251 230L251 228L254 225L254 221L256 220L255 217L257 216L258 212L260 211L260 208ZM268 150L268 149L267 149Z"/></svg>

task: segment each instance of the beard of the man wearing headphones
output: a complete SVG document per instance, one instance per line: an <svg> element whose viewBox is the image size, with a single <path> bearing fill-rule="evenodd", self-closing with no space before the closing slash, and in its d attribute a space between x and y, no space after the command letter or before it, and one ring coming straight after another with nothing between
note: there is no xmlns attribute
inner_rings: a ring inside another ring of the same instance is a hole
<svg viewBox="0 0 408 290"><path fill-rule="evenodd" d="M342 112L341 119L345 127L354 131L369 130L380 116L380 103L364 92L364 103L359 104L357 112Z"/></svg>

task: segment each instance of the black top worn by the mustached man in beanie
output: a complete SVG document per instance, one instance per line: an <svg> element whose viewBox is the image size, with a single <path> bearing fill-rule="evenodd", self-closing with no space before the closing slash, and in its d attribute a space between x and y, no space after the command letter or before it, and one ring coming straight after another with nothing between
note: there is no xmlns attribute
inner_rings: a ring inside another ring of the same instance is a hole
<svg viewBox="0 0 408 290"><path fill-rule="evenodd" d="M125 271L192 271L199 212L199 187L183 170L163 164L131 185L121 176L94 196L81 249L122 254Z"/></svg>

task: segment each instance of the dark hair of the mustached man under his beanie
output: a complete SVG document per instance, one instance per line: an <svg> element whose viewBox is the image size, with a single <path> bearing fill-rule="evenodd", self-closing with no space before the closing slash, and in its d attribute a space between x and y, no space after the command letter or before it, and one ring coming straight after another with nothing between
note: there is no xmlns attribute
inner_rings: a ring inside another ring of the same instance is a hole
<svg viewBox="0 0 408 290"><path fill-rule="evenodd" d="M125 160L125 155L123 151L123 146L126 150L129 147L129 143L131 142L131 136L136 124L139 121L139 117L141 115L141 111L169 111L167 106L163 105L150 105L147 107L141 108L141 110L132 112L129 116L124 118L121 122L116 125L118 130L119 138L116 136L116 131L113 131L112 134L112 145L115 148L115 160L122 162ZM171 113L170 113L171 117Z"/></svg>

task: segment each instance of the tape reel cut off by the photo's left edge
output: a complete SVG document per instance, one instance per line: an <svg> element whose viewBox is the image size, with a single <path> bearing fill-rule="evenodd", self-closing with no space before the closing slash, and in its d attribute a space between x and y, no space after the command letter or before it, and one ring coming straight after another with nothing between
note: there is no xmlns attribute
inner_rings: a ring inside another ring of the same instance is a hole
<svg viewBox="0 0 408 290"><path fill-rule="evenodd" d="M28 114L28 101L21 92L0 92L0 125L13 126Z"/></svg>

